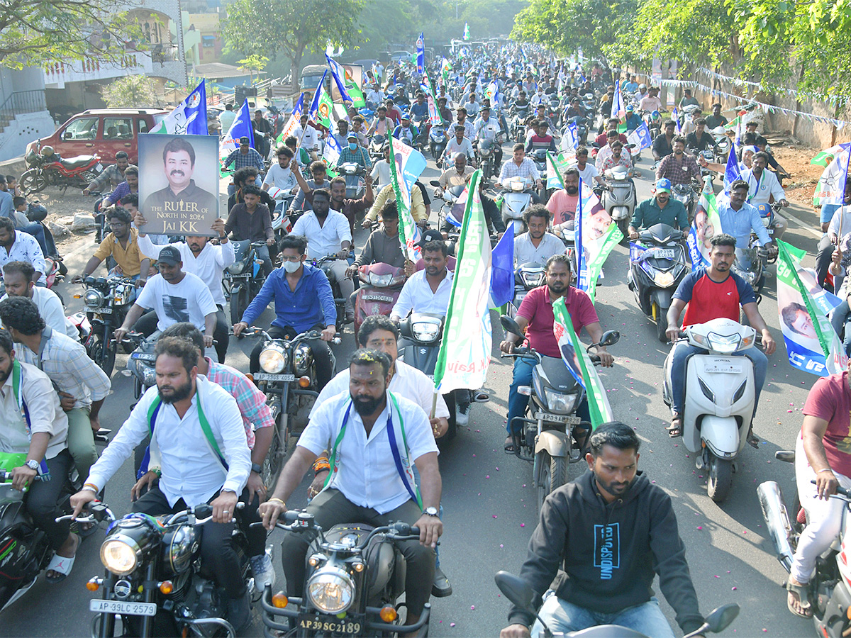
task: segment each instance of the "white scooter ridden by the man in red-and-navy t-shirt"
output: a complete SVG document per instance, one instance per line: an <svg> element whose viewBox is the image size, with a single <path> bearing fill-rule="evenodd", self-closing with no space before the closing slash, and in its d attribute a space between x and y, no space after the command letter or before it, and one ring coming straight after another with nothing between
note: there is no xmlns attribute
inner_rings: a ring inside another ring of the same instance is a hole
<svg viewBox="0 0 851 638"><path fill-rule="evenodd" d="M695 454L698 470L707 470L710 498L721 503L733 482L734 459L747 442L756 400L753 362L747 356L734 355L757 344L757 331L718 318L689 326L681 334L688 345L708 350L686 362L683 444ZM662 395L669 407L673 352L671 348L665 359Z"/></svg>

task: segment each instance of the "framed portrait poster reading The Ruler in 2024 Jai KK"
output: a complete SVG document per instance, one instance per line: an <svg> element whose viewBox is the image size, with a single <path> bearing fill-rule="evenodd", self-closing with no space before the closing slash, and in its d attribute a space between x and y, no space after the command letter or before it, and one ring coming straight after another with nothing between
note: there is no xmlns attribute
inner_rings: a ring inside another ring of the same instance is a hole
<svg viewBox="0 0 851 638"><path fill-rule="evenodd" d="M154 235L215 236L219 217L219 139L139 136L139 202Z"/></svg>

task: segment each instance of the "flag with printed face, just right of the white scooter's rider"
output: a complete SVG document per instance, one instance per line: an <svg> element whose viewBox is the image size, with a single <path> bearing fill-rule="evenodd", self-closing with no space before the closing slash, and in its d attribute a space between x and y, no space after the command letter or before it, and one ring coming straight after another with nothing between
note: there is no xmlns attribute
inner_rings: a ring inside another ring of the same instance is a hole
<svg viewBox="0 0 851 638"><path fill-rule="evenodd" d="M777 246L777 310L791 366L822 377L841 373L848 356L827 309L815 299L823 291L813 273L801 267L806 251L781 240Z"/></svg>

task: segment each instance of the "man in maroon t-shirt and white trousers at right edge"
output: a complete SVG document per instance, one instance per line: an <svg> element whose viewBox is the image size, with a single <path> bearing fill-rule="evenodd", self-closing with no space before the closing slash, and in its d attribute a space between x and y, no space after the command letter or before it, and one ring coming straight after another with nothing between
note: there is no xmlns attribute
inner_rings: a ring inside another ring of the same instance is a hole
<svg viewBox="0 0 851 638"><path fill-rule="evenodd" d="M798 498L807 510L807 527L798 538L786 584L789 611L798 616L813 615L808 584L815 561L837 538L842 523L845 501L830 496L837 492L837 485L851 489L849 412L848 370L818 379L803 407L801 436L795 446L795 481Z"/></svg>

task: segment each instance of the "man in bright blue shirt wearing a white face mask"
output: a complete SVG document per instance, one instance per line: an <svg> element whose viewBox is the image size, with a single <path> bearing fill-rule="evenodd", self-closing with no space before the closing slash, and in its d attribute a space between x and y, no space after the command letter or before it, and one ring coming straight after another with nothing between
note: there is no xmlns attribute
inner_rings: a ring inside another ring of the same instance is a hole
<svg viewBox="0 0 851 638"><path fill-rule="evenodd" d="M260 293L243 313L243 321L234 325L233 333L238 337L274 299L276 317L268 331L272 339L284 336L292 339L306 330L322 330L321 338L306 341L316 362L318 390L322 390L334 375L328 341L336 333L337 310L328 277L321 268L305 264L306 248L307 240L302 236L288 235L281 240L283 265L271 271ZM260 351L264 345L262 340L258 341L251 352L252 373L260 370Z"/></svg>

